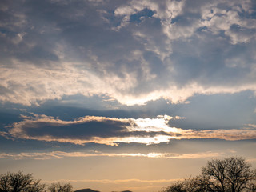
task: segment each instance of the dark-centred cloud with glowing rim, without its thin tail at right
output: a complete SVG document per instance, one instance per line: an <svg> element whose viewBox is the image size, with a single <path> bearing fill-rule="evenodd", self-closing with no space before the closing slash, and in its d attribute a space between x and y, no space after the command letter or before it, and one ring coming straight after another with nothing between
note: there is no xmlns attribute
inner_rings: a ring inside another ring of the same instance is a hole
<svg viewBox="0 0 256 192"><path fill-rule="evenodd" d="M46 115L34 114L22 122L8 126L14 138L40 141L71 142L84 144L96 142L115 145L118 142L139 142L145 144L168 142L177 128L167 126L165 118L105 118L86 116L74 121L62 121Z"/></svg>

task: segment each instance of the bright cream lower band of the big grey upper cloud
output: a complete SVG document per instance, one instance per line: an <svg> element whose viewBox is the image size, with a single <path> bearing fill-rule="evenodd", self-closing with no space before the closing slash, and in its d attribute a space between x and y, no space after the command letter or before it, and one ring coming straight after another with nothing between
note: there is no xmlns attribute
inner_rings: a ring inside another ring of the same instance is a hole
<svg viewBox="0 0 256 192"><path fill-rule="evenodd" d="M152 90L149 93L129 93L136 87L138 80L133 74L125 74L125 78L118 76L102 77L87 70L79 70L77 64L62 63L62 67L50 69L38 68L14 62L15 68L1 66L2 82L0 82L0 99L4 102L22 103L23 105L40 104L48 99L61 99L64 95L106 94L125 105L145 104L148 101L165 98L173 103L186 102L194 94L238 93L244 90L256 90L251 82L247 85L233 87L210 86L204 87L192 82L183 87L175 85L164 90ZM54 65L54 63L52 64ZM79 64L78 64L79 65ZM254 71L250 72L251 75ZM125 93L123 93L125 92Z"/></svg>

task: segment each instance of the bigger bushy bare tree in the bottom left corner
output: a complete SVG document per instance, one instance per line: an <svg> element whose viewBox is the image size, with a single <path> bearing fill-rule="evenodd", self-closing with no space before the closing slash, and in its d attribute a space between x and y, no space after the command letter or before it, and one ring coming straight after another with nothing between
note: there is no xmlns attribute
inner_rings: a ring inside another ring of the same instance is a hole
<svg viewBox="0 0 256 192"><path fill-rule="evenodd" d="M40 180L34 181L32 174L23 174L22 171L0 176L0 191L4 192L42 192L45 187Z"/></svg>

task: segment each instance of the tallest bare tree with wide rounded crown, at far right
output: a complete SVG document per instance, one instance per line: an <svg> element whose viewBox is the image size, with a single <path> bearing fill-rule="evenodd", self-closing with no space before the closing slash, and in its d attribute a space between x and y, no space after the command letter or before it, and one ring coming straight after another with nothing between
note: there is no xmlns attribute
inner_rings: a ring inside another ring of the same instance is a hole
<svg viewBox="0 0 256 192"><path fill-rule="evenodd" d="M244 158L215 159L202 168L202 175L209 179L210 189L218 192L250 191L256 171Z"/></svg>

